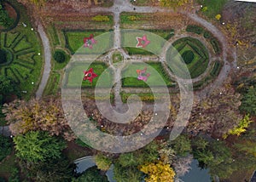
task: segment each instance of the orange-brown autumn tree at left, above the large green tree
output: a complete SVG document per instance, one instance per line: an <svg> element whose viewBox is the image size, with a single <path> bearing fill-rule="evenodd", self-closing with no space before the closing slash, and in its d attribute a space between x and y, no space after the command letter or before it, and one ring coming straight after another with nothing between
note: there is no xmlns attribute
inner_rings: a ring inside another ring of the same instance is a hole
<svg viewBox="0 0 256 182"><path fill-rule="evenodd" d="M64 117L61 100L15 100L6 105L3 112L13 135L43 130L67 140L75 138Z"/></svg>

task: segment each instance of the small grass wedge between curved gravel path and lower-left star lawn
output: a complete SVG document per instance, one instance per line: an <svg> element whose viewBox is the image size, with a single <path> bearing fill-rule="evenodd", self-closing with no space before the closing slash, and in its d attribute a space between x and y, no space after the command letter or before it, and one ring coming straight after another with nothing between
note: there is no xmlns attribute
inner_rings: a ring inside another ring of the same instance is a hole
<svg viewBox="0 0 256 182"><path fill-rule="evenodd" d="M60 79L61 75L58 72L52 72L50 74L47 85L44 88L44 96L57 94L60 85Z"/></svg>

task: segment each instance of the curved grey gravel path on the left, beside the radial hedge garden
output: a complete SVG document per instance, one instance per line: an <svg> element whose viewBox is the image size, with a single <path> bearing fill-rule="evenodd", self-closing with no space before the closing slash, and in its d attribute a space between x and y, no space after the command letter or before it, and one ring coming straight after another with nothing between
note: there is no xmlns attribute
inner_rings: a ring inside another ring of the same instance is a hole
<svg viewBox="0 0 256 182"><path fill-rule="evenodd" d="M38 87L38 91L36 93L36 98L40 99L43 95L44 88L49 79L49 73L51 70L51 63L50 63L51 51L49 46L49 39L46 36L46 33L44 32L44 28L41 24L38 25L38 33L39 33L39 36L41 37L41 40L44 46L44 72L43 72L43 77L41 79L40 85Z"/></svg>

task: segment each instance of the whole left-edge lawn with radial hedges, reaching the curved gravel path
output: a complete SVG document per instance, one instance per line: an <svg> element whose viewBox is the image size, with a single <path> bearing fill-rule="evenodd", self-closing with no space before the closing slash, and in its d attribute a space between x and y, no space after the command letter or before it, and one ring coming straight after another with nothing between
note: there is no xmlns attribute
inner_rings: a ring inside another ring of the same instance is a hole
<svg viewBox="0 0 256 182"><path fill-rule="evenodd" d="M20 22L15 29L0 34L0 48L7 49L13 60L0 66L0 74L12 77L20 90L26 91L24 98L29 99L38 88L42 71L42 45L20 3L10 1L20 11ZM22 22L26 26L22 25ZM40 55L38 55L40 53Z"/></svg>

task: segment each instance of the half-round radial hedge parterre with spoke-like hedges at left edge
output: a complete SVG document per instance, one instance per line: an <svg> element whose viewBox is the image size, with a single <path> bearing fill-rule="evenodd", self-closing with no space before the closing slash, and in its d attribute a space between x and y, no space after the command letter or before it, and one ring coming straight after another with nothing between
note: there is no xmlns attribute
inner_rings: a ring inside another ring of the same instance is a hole
<svg viewBox="0 0 256 182"><path fill-rule="evenodd" d="M6 64L0 64L0 73L13 78L17 84L25 82L36 65L32 43L20 32L3 32L0 41L0 49L7 50L12 57Z"/></svg>

